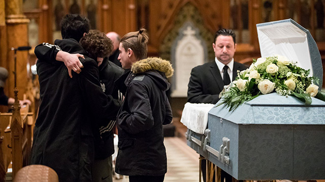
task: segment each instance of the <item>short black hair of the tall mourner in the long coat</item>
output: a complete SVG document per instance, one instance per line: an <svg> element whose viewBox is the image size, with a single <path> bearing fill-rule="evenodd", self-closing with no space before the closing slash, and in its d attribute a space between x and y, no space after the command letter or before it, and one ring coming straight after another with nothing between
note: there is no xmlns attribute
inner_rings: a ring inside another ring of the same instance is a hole
<svg viewBox="0 0 325 182"><path fill-rule="evenodd" d="M61 35L63 39L73 38L79 42L84 33L88 33L90 23L88 18L79 14L67 14L61 20Z"/></svg>

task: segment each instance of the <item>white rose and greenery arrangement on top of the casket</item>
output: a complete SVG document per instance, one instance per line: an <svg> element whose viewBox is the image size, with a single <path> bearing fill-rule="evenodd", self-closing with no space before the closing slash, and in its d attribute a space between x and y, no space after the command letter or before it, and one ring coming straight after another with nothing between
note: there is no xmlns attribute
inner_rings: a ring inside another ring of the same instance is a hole
<svg viewBox="0 0 325 182"><path fill-rule="evenodd" d="M236 109L246 101L250 101L259 95L276 92L281 96L294 96L311 104L310 97L316 97L325 101L325 95L318 92L319 79L308 77L310 70L297 66L285 56L271 56L267 58L253 59L253 63L243 70L230 85L220 93L222 101L230 111Z"/></svg>

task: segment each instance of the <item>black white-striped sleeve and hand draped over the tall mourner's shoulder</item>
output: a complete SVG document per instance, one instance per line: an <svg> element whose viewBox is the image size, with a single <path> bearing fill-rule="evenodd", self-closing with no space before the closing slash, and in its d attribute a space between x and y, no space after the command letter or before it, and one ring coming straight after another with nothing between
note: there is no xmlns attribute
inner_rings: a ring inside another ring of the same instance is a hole
<svg viewBox="0 0 325 182"><path fill-rule="evenodd" d="M80 73L83 68L79 58L84 58L81 54L70 54L61 50L58 45L41 43L35 48L35 55L40 61L61 61L67 66L69 76L72 78L71 70Z"/></svg>

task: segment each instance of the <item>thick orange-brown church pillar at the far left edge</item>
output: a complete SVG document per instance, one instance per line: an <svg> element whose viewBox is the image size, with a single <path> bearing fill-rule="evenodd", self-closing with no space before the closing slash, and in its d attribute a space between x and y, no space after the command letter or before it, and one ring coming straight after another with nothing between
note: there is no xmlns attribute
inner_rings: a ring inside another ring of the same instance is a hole
<svg viewBox="0 0 325 182"><path fill-rule="evenodd" d="M7 38L7 59L6 68L9 71L7 79L8 97L14 97L14 74L15 62L14 51L11 48L18 48L28 45L28 23L27 19L22 13L22 0L5 0L6 10L6 38ZM23 93L27 86L27 51L17 51L17 88L19 89L18 98L23 98Z"/></svg>

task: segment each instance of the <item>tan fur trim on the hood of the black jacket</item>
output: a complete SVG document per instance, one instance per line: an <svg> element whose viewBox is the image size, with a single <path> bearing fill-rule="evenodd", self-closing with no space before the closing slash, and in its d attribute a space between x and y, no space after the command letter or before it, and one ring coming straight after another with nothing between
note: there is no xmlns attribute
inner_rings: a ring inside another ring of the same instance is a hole
<svg viewBox="0 0 325 182"><path fill-rule="evenodd" d="M131 71L135 74L143 73L149 70L163 72L165 73L166 77L171 77L174 74L172 64L167 60L157 57L149 57L147 59L137 61L131 67Z"/></svg>

